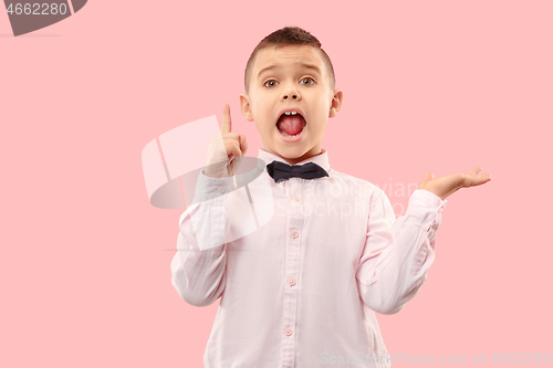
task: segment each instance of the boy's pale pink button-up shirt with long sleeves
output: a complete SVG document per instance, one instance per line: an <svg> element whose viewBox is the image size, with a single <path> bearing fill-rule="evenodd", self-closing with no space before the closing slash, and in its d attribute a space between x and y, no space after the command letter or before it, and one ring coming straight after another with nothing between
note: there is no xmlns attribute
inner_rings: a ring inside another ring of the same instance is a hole
<svg viewBox="0 0 553 368"><path fill-rule="evenodd" d="M285 162L263 149L258 158ZM417 189L396 220L386 193L332 169L327 151L298 165L310 161L328 177L275 183L259 166L249 188L269 186L274 213L230 242L227 179L198 178L218 197L180 217L171 282L195 306L221 297L207 368L344 366L347 358L352 367L390 366L374 312L397 313L420 290L447 200ZM210 249L200 251L198 240Z"/></svg>

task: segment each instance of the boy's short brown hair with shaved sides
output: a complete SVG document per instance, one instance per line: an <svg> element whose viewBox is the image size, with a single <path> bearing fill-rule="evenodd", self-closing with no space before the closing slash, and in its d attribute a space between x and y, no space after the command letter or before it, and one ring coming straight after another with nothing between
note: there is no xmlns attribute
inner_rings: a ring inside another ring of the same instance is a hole
<svg viewBox="0 0 553 368"><path fill-rule="evenodd" d="M284 27L278 31L265 36L261 42L255 46L253 52L248 60L248 64L246 64L244 71L244 87L246 93L248 93L250 87L250 78L251 78L251 70L253 69L253 63L255 61L255 55L258 52L268 46L284 46L284 45L310 45L321 51L321 55L323 56L323 61L326 64L326 70L328 72L331 88L334 90L336 80L334 77L334 67L332 66L331 57L321 49L321 42L305 30L302 30L298 27Z"/></svg>

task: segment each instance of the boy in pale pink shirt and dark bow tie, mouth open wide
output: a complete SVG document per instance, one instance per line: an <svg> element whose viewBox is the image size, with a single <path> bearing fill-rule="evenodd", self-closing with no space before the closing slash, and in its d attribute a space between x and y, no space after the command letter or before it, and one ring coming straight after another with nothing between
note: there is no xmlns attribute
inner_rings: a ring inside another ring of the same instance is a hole
<svg viewBox="0 0 553 368"><path fill-rule="evenodd" d="M244 80L241 112L255 122L263 141L258 158L267 164L250 187L270 182L279 206L268 224L231 242L225 196L194 203L180 218L173 285L191 305L221 297L205 366L389 367L374 311L397 313L418 293L435 259L445 198L490 176L477 175L478 167L438 179L427 172L396 220L383 190L330 166L322 139L343 92L313 35L298 28L268 35ZM209 164L248 149L246 137L231 132L227 104L221 137L226 157L210 147L198 179L207 193L225 180ZM200 241L217 246L200 251Z"/></svg>

